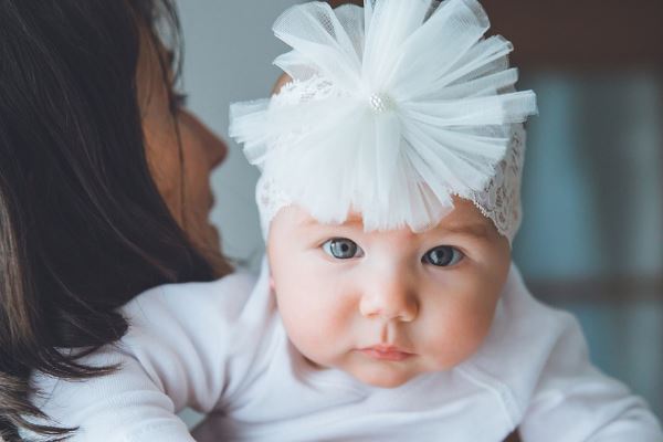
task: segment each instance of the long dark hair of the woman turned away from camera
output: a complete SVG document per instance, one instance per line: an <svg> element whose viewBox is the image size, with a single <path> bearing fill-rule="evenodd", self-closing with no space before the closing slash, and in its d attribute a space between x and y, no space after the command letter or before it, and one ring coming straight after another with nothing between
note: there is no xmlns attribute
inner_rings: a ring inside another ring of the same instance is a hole
<svg viewBox="0 0 663 442"><path fill-rule="evenodd" d="M159 284L213 277L169 213L145 154L140 35L147 31L157 42L164 18L178 34L173 11L168 0L0 0L0 435L7 441L20 440L18 428L53 440L71 434L34 423L46 417L30 401L31 373L110 372L76 360L125 334L119 306Z"/></svg>

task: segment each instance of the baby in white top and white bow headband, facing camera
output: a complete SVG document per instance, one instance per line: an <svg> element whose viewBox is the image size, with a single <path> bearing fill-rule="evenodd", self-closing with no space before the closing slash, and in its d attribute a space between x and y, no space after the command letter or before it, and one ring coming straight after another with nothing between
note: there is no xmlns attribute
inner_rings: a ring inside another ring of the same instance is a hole
<svg viewBox="0 0 663 442"><path fill-rule="evenodd" d="M663 441L511 263L536 105L487 28L475 0L286 11L292 81L231 126L263 172L257 282L148 291L83 360L118 371L35 402L81 441L191 441L187 406L218 440Z"/></svg>

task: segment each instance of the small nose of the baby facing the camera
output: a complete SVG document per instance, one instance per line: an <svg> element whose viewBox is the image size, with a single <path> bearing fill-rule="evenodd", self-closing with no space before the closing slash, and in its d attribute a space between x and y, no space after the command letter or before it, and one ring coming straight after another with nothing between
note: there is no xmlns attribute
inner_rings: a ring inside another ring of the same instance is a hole
<svg viewBox="0 0 663 442"><path fill-rule="evenodd" d="M373 278L364 292L359 312L369 319L386 319L409 323L419 314L415 287L409 277L399 272Z"/></svg>

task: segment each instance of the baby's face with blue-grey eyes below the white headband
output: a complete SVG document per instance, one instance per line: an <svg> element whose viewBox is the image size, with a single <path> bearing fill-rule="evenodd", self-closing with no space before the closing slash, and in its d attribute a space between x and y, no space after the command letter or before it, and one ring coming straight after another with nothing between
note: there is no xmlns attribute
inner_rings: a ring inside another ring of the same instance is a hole
<svg viewBox="0 0 663 442"><path fill-rule="evenodd" d="M267 252L293 345L316 367L385 388L475 352L511 263L507 240L460 199L423 233L367 233L360 218L320 224L290 207L272 221Z"/></svg>

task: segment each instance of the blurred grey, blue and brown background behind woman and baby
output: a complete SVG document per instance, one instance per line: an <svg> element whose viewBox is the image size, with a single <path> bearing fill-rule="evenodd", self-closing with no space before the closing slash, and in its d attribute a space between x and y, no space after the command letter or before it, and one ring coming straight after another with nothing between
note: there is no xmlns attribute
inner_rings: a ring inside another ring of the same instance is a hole
<svg viewBox="0 0 663 442"><path fill-rule="evenodd" d="M227 139L229 103L266 96L278 76L286 48L271 24L296 2L178 1L183 90ZM663 1L483 4L539 98L514 260L537 297L580 319L592 360L663 417ZM225 253L253 269L256 178L230 143L212 217Z"/></svg>

